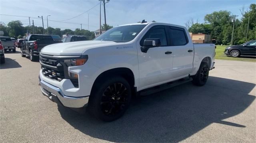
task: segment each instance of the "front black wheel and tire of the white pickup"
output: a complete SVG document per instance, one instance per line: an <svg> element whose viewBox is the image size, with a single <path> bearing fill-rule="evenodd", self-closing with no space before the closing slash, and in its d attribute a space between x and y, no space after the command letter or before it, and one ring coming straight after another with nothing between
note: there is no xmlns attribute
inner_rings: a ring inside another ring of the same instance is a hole
<svg viewBox="0 0 256 143"><path fill-rule="evenodd" d="M94 88L90 95L89 111L102 121L114 121L124 114L130 104L130 84L121 76L98 81L94 85L97 88Z"/></svg>

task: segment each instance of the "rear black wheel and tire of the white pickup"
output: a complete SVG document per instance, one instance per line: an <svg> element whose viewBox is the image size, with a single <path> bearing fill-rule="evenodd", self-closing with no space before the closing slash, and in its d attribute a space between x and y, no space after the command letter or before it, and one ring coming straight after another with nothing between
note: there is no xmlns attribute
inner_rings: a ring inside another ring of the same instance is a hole
<svg viewBox="0 0 256 143"><path fill-rule="evenodd" d="M197 86L203 86L206 84L209 76L209 67L207 63L202 62L196 75L192 76L193 84Z"/></svg>

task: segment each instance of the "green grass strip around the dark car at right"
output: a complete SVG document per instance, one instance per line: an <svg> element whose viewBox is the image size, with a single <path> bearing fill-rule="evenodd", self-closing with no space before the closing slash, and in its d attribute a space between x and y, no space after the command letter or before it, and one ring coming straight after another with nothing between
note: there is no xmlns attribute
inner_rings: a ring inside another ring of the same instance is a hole
<svg viewBox="0 0 256 143"><path fill-rule="evenodd" d="M234 61L246 61L246 62L256 62L255 56L240 56L238 58L230 57L224 54L224 50L227 45L216 45L216 56L215 59L221 60L234 60Z"/></svg>

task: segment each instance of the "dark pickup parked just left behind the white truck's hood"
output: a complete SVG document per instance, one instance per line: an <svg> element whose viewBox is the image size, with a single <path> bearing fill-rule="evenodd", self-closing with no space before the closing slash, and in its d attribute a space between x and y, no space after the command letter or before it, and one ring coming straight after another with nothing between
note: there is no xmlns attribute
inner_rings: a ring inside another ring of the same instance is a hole
<svg viewBox="0 0 256 143"><path fill-rule="evenodd" d="M39 59L39 53L43 47L55 43L62 43L62 41L54 41L51 35L28 35L24 39L24 45L20 49L21 56L29 56L31 61L36 61Z"/></svg>

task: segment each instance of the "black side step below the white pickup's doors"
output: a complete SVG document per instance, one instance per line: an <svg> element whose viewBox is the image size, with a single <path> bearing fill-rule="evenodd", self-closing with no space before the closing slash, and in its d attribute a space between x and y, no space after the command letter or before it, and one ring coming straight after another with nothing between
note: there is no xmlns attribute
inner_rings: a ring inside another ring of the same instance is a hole
<svg viewBox="0 0 256 143"><path fill-rule="evenodd" d="M139 91L138 95L146 96L146 95L154 94L156 92L160 92L162 90L166 90L168 88L172 88L174 86L178 86L180 84L184 84L184 83L190 82L192 80L193 79L190 78L190 77L182 78L182 79L179 79L179 80L175 80L175 81L172 81L172 82L161 84L159 86L155 86L155 87L152 87L152 88L141 90L141 91Z"/></svg>

